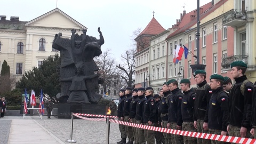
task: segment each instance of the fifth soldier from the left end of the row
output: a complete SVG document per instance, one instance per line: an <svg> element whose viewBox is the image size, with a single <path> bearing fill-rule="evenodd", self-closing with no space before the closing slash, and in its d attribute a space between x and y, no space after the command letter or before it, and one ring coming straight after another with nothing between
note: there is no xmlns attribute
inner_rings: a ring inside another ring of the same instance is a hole
<svg viewBox="0 0 256 144"><path fill-rule="evenodd" d="M153 89L152 87L147 87L145 96L147 100L145 101L143 115L141 123L149 126L155 126L157 122L156 116L156 101L153 97ZM145 130L144 132L145 139L148 144L155 144L155 132L151 130Z"/></svg>

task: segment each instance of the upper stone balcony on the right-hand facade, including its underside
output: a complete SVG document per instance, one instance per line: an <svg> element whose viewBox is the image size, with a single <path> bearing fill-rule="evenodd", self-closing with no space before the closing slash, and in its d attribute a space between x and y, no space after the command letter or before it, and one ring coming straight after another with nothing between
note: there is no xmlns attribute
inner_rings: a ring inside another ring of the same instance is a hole
<svg viewBox="0 0 256 144"><path fill-rule="evenodd" d="M244 10L230 10L224 14L222 25L224 26L241 26L246 22L247 14Z"/></svg>

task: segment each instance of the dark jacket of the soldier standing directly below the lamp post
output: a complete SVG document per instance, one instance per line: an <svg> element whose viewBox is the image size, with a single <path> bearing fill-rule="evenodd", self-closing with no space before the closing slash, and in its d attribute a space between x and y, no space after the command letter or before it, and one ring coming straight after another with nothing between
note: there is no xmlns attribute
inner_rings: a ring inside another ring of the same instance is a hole
<svg viewBox="0 0 256 144"><path fill-rule="evenodd" d="M197 119L204 120L205 123L208 122L208 116L205 114L207 112L207 105L211 99L211 87L209 84L207 84L206 81L202 82L201 84L198 84L196 88L196 100L194 105L194 115L193 119L194 121L197 121Z"/></svg>

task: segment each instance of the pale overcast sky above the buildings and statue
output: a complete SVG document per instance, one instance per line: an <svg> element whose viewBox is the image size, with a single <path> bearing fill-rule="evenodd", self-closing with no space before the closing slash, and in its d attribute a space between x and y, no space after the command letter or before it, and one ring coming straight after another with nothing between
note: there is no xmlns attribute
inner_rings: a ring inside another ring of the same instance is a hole
<svg viewBox="0 0 256 144"><path fill-rule="evenodd" d="M20 17L30 21L56 8L57 0L1 0L0 15ZM200 6L211 0L200 0ZM101 28L105 44L101 50L111 49L118 61L133 44L133 31L148 25L155 11L156 20L168 29L180 19L185 3L186 12L196 9L196 0L58 0L58 8L87 27L87 35L99 38Z"/></svg>

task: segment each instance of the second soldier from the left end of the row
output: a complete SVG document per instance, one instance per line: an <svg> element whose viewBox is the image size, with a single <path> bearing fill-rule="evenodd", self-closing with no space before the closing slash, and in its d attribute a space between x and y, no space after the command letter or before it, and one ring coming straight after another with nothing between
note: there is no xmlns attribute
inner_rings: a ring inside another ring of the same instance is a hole
<svg viewBox="0 0 256 144"><path fill-rule="evenodd" d="M132 101L132 89L130 87L127 87L125 89L125 101L124 101L124 109L123 109L123 116L125 122L130 122L130 104ZM125 125L125 132L128 137L127 144L133 143L134 137L132 133L132 126Z"/></svg>

